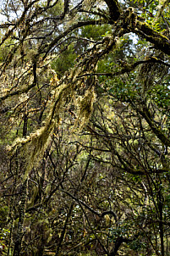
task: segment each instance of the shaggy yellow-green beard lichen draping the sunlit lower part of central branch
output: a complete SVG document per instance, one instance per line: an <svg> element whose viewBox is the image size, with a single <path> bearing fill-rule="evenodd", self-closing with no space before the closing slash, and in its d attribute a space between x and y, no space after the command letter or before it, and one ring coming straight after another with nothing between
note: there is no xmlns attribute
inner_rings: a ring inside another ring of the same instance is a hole
<svg viewBox="0 0 170 256"><path fill-rule="evenodd" d="M99 59L109 53L112 47L116 46L117 39L115 39L115 35L112 35L91 47L77 58L77 64L73 69L66 71L60 81L55 79L54 74L54 78L51 79L52 101L48 105L48 114L42 127L25 138L17 138L13 145L8 146L8 150L12 153L19 148L20 155L25 159L26 175L29 174L33 166L39 164L40 156L46 150L54 128L60 125L60 117L68 103L68 98L74 103L78 112L74 127L79 125L79 128L82 129L88 123L93 111L93 103L96 100L96 82L94 77L91 81L89 80L89 84L85 84L85 77L82 77L82 75L94 73ZM89 76L86 76L86 81L88 81ZM78 92L83 92L83 94L79 96Z"/></svg>

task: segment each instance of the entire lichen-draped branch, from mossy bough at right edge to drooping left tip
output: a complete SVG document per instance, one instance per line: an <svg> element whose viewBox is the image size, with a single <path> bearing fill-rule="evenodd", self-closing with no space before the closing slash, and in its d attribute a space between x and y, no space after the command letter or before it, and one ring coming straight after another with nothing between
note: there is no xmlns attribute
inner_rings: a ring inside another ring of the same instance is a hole
<svg viewBox="0 0 170 256"><path fill-rule="evenodd" d="M80 77L85 75L85 73L91 74L96 70L96 64L105 54L112 50L112 47L116 46L118 37L126 33L126 29L139 33L140 31L145 31L148 36L154 36L154 38L159 35L158 33L152 31L148 25L145 23L140 23L134 15L134 9L129 8L126 11L125 28L123 32L120 33L121 28L116 27L115 33L112 36L106 36L102 42L94 45L85 53L83 53L80 58L77 59L77 64L72 70L69 70L63 75L60 81L55 81L55 85L51 83L52 89L54 89L52 103L49 106L49 114L44 120L44 125L35 132L31 133L30 136L26 138L17 138L14 144L9 147L12 151L15 151L17 147L22 148L21 151L24 154L24 158L27 164L27 171L29 172L35 163L39 162L39 156L47 147L47 144L52 135L54 127L58 125L60 116L62 115L63 106L69 98L78 97L79 100L75 100L75 104L78 103L76 109L78 111L78 118L75 120L75 125L79 125L82 129L83 125L87 124L90 119L90 115L93 111L93 103L96 100L95 94L95 81L91 81L90 85L86 86L84 83L84 78ZM137 28L137 29L136 29ZM150 34L150 35L149 35ZM159 35L160 37L160 35ZM167 38L160 37L167 43ZM88 75L87 75L88 78ZM77 89L84 87L85 90L83 96L79 97L77 95Z"/></svg>

